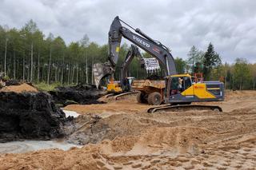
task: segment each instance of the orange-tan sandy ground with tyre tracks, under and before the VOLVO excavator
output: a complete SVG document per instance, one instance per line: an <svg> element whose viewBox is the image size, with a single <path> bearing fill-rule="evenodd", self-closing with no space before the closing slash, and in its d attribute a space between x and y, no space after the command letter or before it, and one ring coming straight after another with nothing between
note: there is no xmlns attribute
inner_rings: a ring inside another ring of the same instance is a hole
<svg viewBox="0 0 256 170"><path fill-rule="evenodd" d="M224 112L149 114L133 97L68 105L83 115L69 138L81 138L83 148L1 154L0 169L255 169L256 91L227 92L226 101L207 104Z"/></svg>

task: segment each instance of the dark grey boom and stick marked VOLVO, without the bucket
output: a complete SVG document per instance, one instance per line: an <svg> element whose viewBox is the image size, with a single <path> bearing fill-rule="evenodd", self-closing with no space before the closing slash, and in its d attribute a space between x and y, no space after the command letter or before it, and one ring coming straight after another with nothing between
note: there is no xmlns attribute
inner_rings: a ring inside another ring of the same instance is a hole
<svg viewBox="0 0 256 170"><path fill-rule="evenodd" d="M122 26L122 20L118 17L114 18L110 26L109 31L109 59L112 65L116 65L118 61L118 54L120 49L120 44L122 37L128 39L134 45L138 45L140 48L144 49L147 53L150 53L153 57L164 65L166 76L176 74L176 65L174 62L174 57L171 55L170 50L162 45L161 42L154 41L152 38L144 34L139 29L134 29L137 34L130 31L126 27ZM124 22L126 24L126 22ZM127 25L127 24L126 24ZM129 26L129 25L127 25Z"/></svg>

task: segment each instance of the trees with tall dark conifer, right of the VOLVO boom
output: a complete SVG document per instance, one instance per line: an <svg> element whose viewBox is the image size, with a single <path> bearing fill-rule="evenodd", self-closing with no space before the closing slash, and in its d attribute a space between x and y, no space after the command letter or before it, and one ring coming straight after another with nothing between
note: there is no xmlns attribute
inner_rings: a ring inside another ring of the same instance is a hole
<svg viewBox="0 0 256 170"><path fill-rule="evenodd" d="M226 89L255 89L256 63L242 57L235 58L233 64L222 63L211 43L206 52L193 45L185 65L184 69L192 74L202 73L206 81L223 81Z"/></svg>

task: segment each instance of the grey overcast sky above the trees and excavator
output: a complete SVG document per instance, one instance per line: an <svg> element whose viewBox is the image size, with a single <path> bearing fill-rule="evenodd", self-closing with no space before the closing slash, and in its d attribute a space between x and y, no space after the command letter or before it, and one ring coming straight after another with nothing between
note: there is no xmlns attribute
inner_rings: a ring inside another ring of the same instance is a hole
<svg viewBox="0 0 256 170"><path fill-rule="evenodd" d="M103 45L118 15L168 46L174 57L186 59L192 45L206 50L212 42L222 61L256 62L255 9L254 0L0 0L0 25L21 28L33 19L44 34L66 43L87 34Z"/></svg>

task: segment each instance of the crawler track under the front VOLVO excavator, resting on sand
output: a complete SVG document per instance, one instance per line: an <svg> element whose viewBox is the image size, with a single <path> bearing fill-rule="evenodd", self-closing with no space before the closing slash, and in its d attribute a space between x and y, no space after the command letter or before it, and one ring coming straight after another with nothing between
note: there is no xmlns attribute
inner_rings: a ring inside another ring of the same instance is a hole
<svg viewBox="0 0 256 170"><path fill-rule="evenodd" d="M148 109L147 113L156 113L161 111L178 112L181 110L186 111L190 109L214 110L216 112L222 112L222 108L218 105L162 105Z"/></svg>

